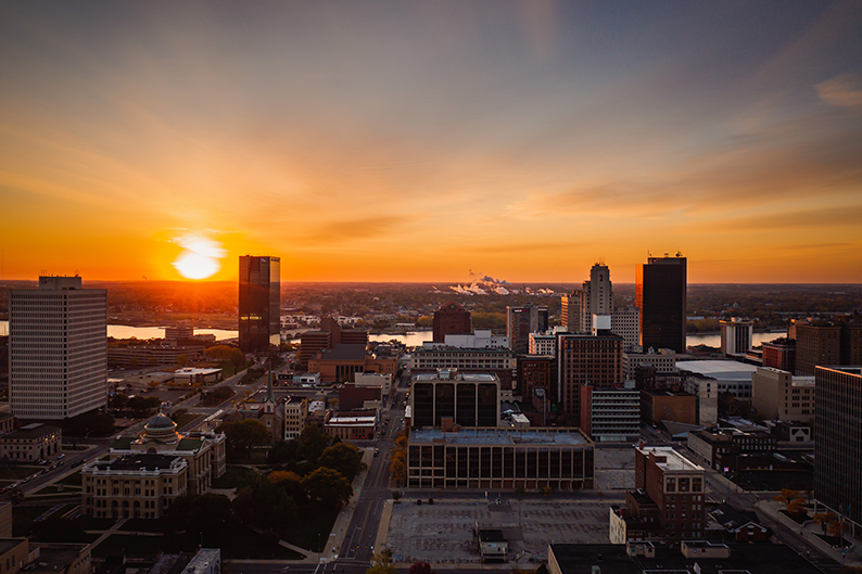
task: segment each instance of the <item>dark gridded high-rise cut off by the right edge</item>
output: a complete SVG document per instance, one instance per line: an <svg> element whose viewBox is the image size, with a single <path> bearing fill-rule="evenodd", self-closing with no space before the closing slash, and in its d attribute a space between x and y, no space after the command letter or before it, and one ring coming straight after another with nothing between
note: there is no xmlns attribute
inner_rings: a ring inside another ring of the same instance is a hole
<svg viewBox="0 0 862 574"><path fill-rule="evenodd" d="M862 526L862 367L814 371L814 498ZM857 531L858 532L858 531Z"/></svg>

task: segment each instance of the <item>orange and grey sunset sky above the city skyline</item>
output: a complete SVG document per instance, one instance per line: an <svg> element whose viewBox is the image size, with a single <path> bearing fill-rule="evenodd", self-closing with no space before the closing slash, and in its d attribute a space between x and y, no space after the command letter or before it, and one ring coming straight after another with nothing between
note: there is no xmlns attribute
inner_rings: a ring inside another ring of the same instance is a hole
<svg viewBox="0 0 862 574"><path fill-rule="evenodd" d="M862 282L862 2L0 3L5 279Z"/></svg>

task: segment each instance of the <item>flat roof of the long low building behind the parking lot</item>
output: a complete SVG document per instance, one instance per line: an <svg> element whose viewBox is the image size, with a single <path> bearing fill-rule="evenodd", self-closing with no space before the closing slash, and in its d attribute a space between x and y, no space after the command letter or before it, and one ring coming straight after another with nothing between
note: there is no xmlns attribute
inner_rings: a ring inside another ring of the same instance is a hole
<svg viewBox="0 0 862 574"><path fill-rule="evenodd" d="M541 432L516 429L461 429L444 433L439 429L421 429L410 433L410 443L443 441L447 445L498 445L498 446L576 446L593 443L578 429L562 432Z"/></svg>

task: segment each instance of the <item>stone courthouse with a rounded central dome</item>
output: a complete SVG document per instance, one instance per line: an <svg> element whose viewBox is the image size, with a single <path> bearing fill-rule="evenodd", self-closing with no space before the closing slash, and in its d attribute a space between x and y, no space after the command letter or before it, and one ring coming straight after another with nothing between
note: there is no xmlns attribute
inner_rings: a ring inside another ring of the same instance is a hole
<svg viewBox="0 0 862 574"><path fill-rule="evenodd" d="M225 433L192 432L182 435L177 423L160 412L150 419L138 438L117 436L111 445L111 460L129 455L178 456L188 465L188 493L200 495L210 489L227 467Z"/></svg>

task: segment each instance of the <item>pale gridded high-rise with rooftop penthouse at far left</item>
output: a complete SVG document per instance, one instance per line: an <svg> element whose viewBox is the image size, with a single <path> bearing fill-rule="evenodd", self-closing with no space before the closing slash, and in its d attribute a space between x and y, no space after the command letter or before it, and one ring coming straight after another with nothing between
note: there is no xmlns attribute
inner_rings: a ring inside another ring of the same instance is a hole
<svg viewBox="0 0 862 574"><path fill-rule="evenodd" d="M107 292L79 277L10 291L10 403L20 419L61 420L107 400Z"/></svg>

